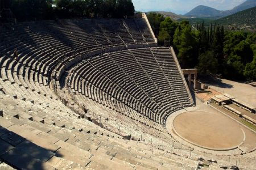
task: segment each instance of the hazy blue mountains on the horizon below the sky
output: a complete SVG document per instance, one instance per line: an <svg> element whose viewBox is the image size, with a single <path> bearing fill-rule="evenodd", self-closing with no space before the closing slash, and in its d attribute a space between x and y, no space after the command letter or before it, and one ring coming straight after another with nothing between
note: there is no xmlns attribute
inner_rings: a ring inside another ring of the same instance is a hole
<svg viewBox="0 0 256 170"><path fill-rule="evenodd" d="M216 10L215 8L208 7L208 6L197 6L189 11L184 16L188 16L191 18L222 18L224 16L232 15L236 12L246 10L247 8L255 7L256 1L255 0L247 0L243 2L241 5L234 7L232 10L220 11Z"/></svg>

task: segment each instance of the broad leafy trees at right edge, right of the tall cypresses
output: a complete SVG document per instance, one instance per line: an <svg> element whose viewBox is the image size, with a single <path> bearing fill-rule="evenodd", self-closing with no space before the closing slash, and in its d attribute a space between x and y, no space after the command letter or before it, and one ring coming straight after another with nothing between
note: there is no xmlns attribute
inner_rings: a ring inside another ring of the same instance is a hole
<svg viewBox="0 0 256 170"><path fill-rule="evenodd" d="M231 79L255 79L255 33L229 32L225 36L224 76Z"/></svg>

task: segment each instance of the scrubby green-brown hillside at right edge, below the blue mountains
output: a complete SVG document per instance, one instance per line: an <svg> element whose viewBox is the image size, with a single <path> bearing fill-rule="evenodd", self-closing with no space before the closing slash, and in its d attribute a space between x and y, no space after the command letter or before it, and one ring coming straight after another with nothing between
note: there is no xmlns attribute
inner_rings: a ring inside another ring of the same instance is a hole
<svg viewBox="0 0 256 170"><path fill-rule="evenodd" d="M256 31L256 7L217 19L214 22L227 29Z"/></svg>

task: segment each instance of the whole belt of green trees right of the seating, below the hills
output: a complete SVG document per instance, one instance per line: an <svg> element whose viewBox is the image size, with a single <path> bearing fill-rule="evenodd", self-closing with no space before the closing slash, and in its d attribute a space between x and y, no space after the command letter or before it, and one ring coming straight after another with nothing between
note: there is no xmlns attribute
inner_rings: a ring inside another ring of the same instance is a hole
<svg viewBox="0 0 256 170"><path fill-rule="evenodd" d="M193 27L160 14L148 19L159 44L174 46L180 65L197 68L201 75L220 74L233 80L256 80L256 33L225 31L223 26L204 22Z"/></svg>

